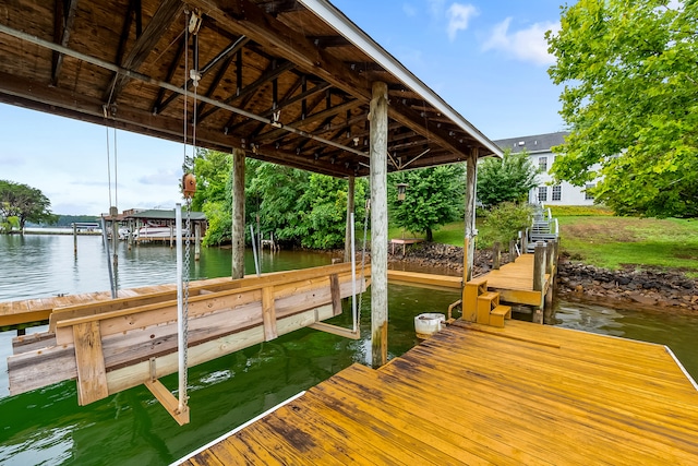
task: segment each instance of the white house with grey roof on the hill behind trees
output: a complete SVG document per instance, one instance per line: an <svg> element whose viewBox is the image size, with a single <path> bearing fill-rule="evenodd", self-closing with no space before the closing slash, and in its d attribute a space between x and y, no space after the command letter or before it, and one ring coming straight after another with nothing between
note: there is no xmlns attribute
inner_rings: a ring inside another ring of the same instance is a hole
<svg viewBox="0 0 698 466"><path fill-rule="evenodd" d="M592 205L593 196L588 193L587 188L593 188L595 183L588 183L586 187L576 187L563 181L561 184L551 184L552 176L550 168L555 160L555 154L551 147L564 144L566 131L547 134L535 134L532 136L510 138L494 141L502 151L507 148L512 153L528 151L531 163L541 169L538 176L538 187L529 193L530 203L543 203L546 205Z"/></svg>

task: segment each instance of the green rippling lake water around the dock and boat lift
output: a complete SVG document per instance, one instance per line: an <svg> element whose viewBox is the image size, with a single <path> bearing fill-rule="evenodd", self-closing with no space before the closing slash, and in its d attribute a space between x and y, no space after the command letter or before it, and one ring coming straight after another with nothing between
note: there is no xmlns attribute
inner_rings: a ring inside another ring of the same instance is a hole
<svg viewBox="0 0 698 466"><path fill-rule="evenodd" d="M0 301L109 289L99 237L0 235ZM166 246L118 249L121 288L173 283L174 251ZM263 272L329 264L325 253L281 251L262 254ZM245 260L254 271L252 254ZM203 248L191 279L230 275L230 250ZM414 344L413 318L445 312L457 292L390 285L389 356ZM348 340L301 330L190 369L191 423L179 427L144 386L88 406L77 405L75 382L9 396L5 360L14 332L0 333L0 464L160 465L212 441L254 416L306 390L352 362L371 360L370 292L361 306L362 338ZM350 310L338 318L349 325ZM698 319L660 312L612 310L557 302L556 325L669 345L698 378L694 342ZM29 330L29 331L37 331ZM177 375L163 379L170 389Z"/></svg>

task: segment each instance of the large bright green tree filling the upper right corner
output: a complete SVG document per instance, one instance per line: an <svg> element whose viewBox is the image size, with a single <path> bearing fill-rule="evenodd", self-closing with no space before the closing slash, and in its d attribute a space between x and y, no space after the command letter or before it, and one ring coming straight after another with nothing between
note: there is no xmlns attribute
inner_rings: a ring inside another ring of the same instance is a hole
<svg viewBox="0 0 698 466"><path fill-rule="evenodd" d="M602 176L618 214L697 216L698 2L579 0L546 37L571 131L555 178Z"/></svg>

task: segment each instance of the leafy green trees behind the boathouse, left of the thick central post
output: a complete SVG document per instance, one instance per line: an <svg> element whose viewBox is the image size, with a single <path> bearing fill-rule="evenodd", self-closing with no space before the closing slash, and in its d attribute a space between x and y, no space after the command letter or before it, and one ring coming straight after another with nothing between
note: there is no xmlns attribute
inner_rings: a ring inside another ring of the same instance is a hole
<svg viewBox="0 0 698 466"><path fill-rule="evenodd" d="M204 244L230 240L231 159L226 154L202 151L194 160L197 189L192 205L201 205L208 218ZM366 181L357 180L357 226L363 218ZM201 198L200 198L201 194ZM245 159L245 222L268 238L289 246L313 249L344 244L347 181L312 175L280 165ZM245 229L249 238L249 231Z"/></svg>

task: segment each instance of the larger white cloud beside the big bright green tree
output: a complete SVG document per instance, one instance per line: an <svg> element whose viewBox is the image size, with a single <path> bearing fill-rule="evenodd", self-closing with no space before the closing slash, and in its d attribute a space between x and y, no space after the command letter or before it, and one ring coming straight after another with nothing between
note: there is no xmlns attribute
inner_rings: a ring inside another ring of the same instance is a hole
<svg viewBox="0 0 698 466"><path fill-rule="evenodd" d="M526 29L509 31L512 17L494 26L490 38L482 46L483 50L501 50L505 53L535 64L553 64L555 58L547 52L545 32L559 31L558 23L535 23Z"/></svg>

